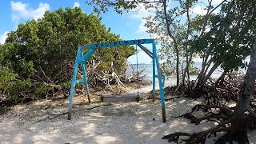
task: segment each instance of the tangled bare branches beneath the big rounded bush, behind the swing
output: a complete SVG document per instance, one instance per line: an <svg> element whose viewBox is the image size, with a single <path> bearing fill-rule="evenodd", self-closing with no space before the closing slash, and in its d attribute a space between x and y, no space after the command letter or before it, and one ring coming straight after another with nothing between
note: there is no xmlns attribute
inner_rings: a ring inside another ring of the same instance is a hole
<svg viewBox="0 0 256 144"><path fill-rule="evenodd" d="M102 61L98 62L87 62L86 71L87 71L87 80L91 88L100 88L108 89L112 91L113 85L116 87L126 88L124 85L128 82L138 82L142 81L144 78L143 70L138 72L138 75L133 73L131 76L127 76L125 71L123 74L115 73L115 66L113 62L110 66L110 69L107 71L97 70L97 67L101 64ZM57 65L58 66L58 65ZM49 74L45 70L46 68L38 66L37 72L30 78L30 84L24 86L22 89L18 89L16 94L13 94L14 97L10 96L9 91L0 89L0 106L5 108L8 106L13 106L19 103L33 102L36 99L58 99L58 98L67 98L70 93L70 82L65 83L64 80L72 78L72 73L74 70L74 62L64 61L62 66L58 66L58 74ZM58 78L60 75L61 78ZM82 78L82 68L78 69L78 78ZM18 80L17 80L18 81ZM75 94L83 94L85 86L83 84L77 85Z"/></svg>

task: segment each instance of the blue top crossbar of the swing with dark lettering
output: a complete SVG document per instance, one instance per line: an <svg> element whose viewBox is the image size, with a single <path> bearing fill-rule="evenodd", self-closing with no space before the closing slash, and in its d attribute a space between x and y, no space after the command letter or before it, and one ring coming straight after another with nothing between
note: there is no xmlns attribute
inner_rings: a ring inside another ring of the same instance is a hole
<svg viewBox="0 0 256 144"><path fill-rule="evenodd" d="M112 46L149 44L149 43L153 43L153 42L154 42L154 39L137 39L137 40L118 41L118 42L96 43L96 44L91 44L91 45L80 46L80 48L82 50L84 50L84 49L98 49L98 48L106 48L106 47L112 47Z"/></svg>

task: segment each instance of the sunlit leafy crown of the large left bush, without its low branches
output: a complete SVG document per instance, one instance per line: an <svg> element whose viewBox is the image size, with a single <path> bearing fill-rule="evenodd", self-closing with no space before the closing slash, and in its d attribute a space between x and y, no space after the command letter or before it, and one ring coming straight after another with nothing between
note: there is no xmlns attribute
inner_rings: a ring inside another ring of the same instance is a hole
<svg viewBox="0 0 256 144"><path fill-rule="evenodd" d="M15 45L10 47L10 51L13 52L9 53L11 61L16 61L14 70L17 70L20 76L33 75L37 72L43 80L47 81L42 76L44 71L54 81L66 82L72 74L70 62L74 62L78 44L121 40L119 36L106 30L106 26L100 21L101 18L84 14L80 8L76 7L54 12L46 11L44 18L18 25L18 30L11 32L6 39L7 43ZM102 61L100 64L102 66L99 67L107 71L111 62L118 60L126 63L126 57L134 52L131 46L97 50L89 62ZM122 69L116 70L122 73L125 67L122 66ZM24 74L21 74L21 71Z"/></svg>

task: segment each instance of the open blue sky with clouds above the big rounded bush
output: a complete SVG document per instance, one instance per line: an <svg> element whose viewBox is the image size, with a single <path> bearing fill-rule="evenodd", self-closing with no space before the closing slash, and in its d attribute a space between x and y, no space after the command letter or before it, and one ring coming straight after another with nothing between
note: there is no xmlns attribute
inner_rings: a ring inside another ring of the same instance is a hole
<svg viewBox="0 0 256 144"><path fill-rule="evenodd" d="M0 43L5 42L6 33L16 30L18 23L26 22L32 18L42 18L42 15L46 10L57 10L62 7L79 6L85 13L90 14L92 8L85 4L84 0L1 0L0 2ZM114 11L109 11L106 14L102 14L102 24L107 27L111 27L112 33L119 34L122 39L140 39L150 38L149 34L146 34L146 29L143 26L145 22L142 20L148 13L146 10L133 12L130 14L116 14ZM131 63L136 63L136 56L132 56L128 59ZM150 63L151 59L142 51L138 54L139 63Z"/></svg>

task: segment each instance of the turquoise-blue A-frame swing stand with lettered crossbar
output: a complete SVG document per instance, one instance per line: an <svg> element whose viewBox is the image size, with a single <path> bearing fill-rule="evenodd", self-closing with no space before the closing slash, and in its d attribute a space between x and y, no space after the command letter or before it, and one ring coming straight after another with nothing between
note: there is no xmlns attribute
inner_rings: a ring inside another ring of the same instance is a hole
<svg viewBox="0 0 256 144"><path fill-rule="evenodd" d="M150 50L146 50L142 44L152 44L153 52ZM97 44L90 44L85 46L78 46L78 53L74 63L74 71L73 71L73 78L71 80L71 88L70 88L70 102L69 102L69 112L68 112L68 119L71 119L71 110L73 104L73 97L74 97L74 88L77 83L84 82L86 85L87 97L90 103L90 91L89 86L86 78L86 66L85 63L88 61L90 56L94 54L94 51L97 49L112 47L112 46L128 46L128 45L138 45L142 48L152 58L153 60L153 102L155 99L155 78L158 78L159 83L159 90L160 90L160 98L161 98L161 105L162 105L162 122L166 122L166 107L165 107L165 97L163 92L163 86L165 82L164 76L162 76L162 72L159 65L158 54L156 51L156 46L154 39L137 39L137 40L129 40L129 41L118 41L118 42L105 42L105 43L97 43ZM83 54L82 50L89 49L86 54ZM82 66L82 79L76 79L78 74L78 66L81 64ZM157 66L158 74L155 74L155 66ZM163 79L162 79L163 78Z"/></svg>

